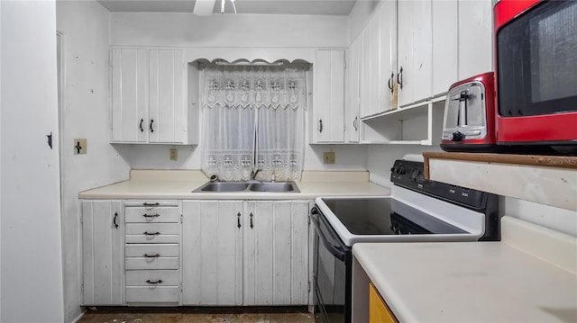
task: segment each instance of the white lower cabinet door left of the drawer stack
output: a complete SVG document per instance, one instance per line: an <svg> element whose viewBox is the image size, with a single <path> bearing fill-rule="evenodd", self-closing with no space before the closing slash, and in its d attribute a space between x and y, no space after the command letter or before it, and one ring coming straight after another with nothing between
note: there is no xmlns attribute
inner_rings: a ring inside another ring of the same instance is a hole
<svg viewBox="0 0 577 323"><path fill-rule="evenodd" d="M123 237L121 202L82 202L84 305L124 303Z"/></svg>

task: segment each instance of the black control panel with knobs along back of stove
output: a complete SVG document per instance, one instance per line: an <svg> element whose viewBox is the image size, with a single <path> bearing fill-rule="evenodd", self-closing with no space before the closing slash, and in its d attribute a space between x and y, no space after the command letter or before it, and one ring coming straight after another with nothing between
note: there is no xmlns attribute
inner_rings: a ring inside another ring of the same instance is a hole
<svg viewBox="0 0 577 323"><path fill-rule="evenodd" d="M484 208L487 194L489 194L461 186L426 180L424 163L403 159L396 160L390 168L390 181L409 190L433 195L474 210Z"/></svg>

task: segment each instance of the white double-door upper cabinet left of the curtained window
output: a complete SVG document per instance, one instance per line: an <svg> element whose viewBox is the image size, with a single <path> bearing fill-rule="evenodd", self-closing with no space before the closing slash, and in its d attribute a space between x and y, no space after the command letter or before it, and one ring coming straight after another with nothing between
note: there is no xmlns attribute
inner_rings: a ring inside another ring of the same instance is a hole
<svg viewBox="0 0 577 323"><path fill-rule="evenodd" d="M114 48L112 142L196 144L188 140L181 49Z"/></svg>

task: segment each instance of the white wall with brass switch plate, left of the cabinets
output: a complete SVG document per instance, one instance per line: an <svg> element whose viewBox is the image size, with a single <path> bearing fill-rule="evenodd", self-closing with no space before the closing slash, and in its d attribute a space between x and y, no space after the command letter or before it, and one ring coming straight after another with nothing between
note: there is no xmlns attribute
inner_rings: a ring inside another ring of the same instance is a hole
<svg viewBox="0 0 577 323"><path fill-rule="evenodd" d="M62 243L65 321L70 322L80 314L82 301L78 192L127 179L130 166L110 145L109 13L95 1L59 1L56 13L65 68ZM74 155L74 139L87 139L86 155Z"/></svg>

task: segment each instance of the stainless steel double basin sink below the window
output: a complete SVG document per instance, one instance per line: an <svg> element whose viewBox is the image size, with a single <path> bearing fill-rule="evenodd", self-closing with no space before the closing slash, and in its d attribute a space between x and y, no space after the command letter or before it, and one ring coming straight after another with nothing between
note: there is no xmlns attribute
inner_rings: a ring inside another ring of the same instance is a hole
<svg viewBox="0 0 577 323"><path fill-rule="evenodd" d="M208 182L193 193L270 192L300 193L295 182Z"/></svg>

